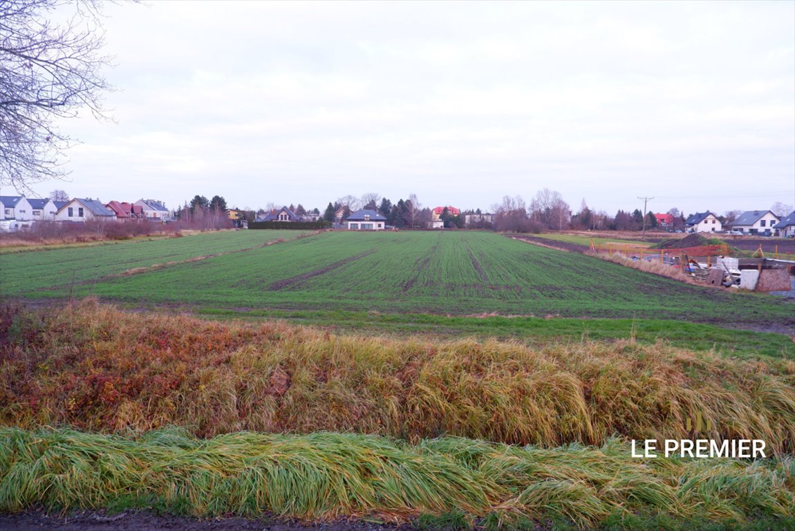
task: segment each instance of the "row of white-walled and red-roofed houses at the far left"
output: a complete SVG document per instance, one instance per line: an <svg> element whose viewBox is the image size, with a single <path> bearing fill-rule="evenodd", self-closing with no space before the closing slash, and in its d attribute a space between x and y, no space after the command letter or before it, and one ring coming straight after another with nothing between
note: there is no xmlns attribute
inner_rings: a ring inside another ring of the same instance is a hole
<svg viewBox="0 0 795 531"><path fill-rule="evenodd" d="M0 196L2 218L15 221L17 227L29 227L36 221L85 222L89 219L125 221L145 219L166 223L173 219L172 212L158 200L138 200L135 203L76 197L68 201L31 199L25 196Z"/></svg>

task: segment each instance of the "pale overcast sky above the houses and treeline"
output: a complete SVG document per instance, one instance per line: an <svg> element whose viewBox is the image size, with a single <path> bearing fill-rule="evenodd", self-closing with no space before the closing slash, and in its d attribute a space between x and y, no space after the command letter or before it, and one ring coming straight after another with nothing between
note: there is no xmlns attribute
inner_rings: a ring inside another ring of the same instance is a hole
<svg viewBox="0 0 795 531"><path fill-rule="evenodd" d="M237 207L795 203L795 2L107 5L71 196Z"/></svg>

